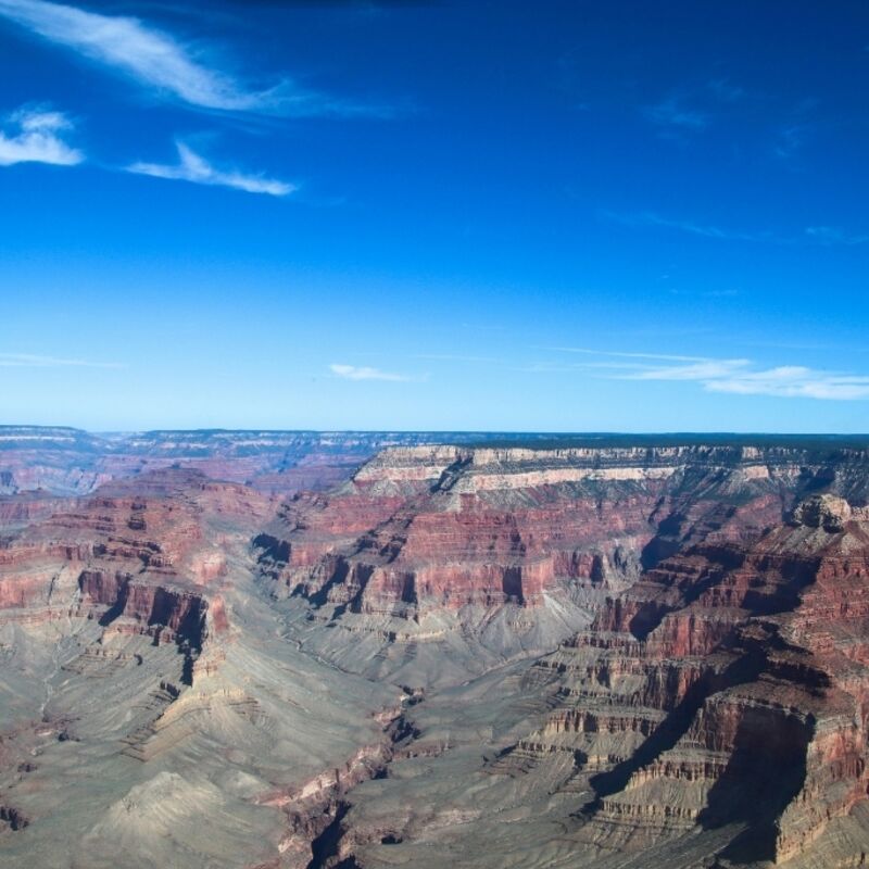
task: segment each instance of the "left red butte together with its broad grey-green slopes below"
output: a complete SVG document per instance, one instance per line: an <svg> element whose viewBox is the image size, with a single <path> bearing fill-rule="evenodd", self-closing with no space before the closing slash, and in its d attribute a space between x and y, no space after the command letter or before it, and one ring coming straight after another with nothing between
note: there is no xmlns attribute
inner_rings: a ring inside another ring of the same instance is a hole
<svg viewBox="0 0 869 869"><path fill-rule="evenodd" d="M168 469L7 526L0 862L307 865L402 692L285 639L250 558L276 506Z"/></svg>

